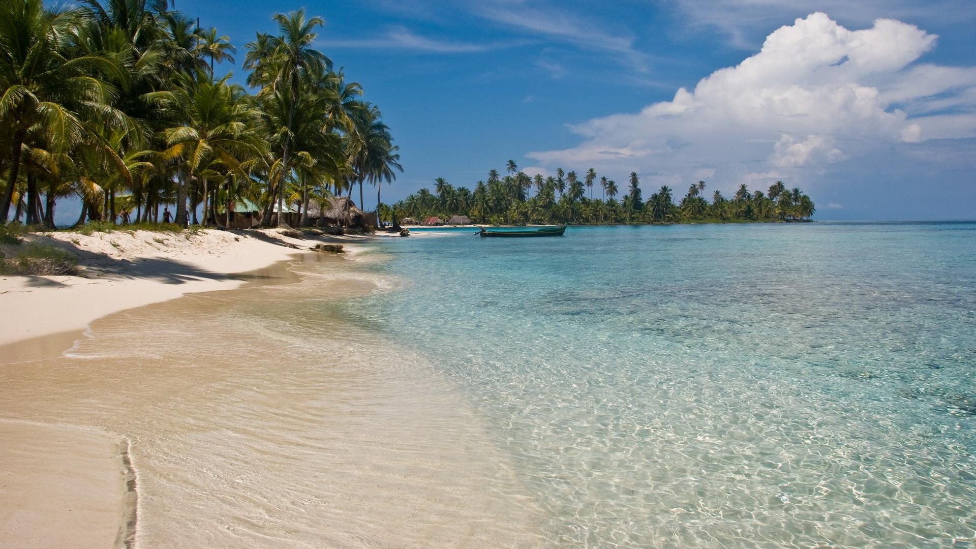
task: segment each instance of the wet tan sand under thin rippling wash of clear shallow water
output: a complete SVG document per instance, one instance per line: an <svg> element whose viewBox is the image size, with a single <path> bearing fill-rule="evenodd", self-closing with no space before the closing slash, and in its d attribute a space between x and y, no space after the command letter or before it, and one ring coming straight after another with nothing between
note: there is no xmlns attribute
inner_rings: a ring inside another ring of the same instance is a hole
<svg viewBox="0 0 976 549"><path fill-rule="evenodd" d="M2 348L0 418L130 441L137 547L544 544L540 509L460 391L337 307L378 288L344 263L305 255L244 288L103 317L63 356L40 341L28 342L43 351L33 358ZM81 446L93 461L59 474L113 472L115 487L85 494L126 504L117 446L68 442L52 455ZM16 529L4 543L50 546L30 525L7 527L13 502L0 500L0 528ZM66 513L44 506L30 524L94 540Z"/></svg>

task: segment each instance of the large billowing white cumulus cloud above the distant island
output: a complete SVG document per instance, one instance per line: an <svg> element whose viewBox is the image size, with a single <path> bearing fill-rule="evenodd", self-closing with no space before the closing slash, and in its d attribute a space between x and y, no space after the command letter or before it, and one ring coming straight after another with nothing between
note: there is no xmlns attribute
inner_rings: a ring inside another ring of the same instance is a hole
<svg viewBox="0 0 976 549"><path fill-rule="evenodd" d="M915 63L937 38L902 21L849 30L811 14L773 31L742 63L678 89L671 101L570 126L580 145L527 156L549 166L679 179L706 165L729 184L761 184L869 148L974 137L976 68Z"/></svg>

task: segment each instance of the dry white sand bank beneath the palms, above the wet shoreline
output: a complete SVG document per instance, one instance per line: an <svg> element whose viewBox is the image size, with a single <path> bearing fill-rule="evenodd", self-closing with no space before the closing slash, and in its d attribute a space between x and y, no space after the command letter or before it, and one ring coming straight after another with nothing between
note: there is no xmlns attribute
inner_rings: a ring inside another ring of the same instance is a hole
<svg viewBox="0 0 976 549"><path fill-rule="evenodd" d="M277 230L226 232L50 232L27 242L59 245L79 256L83 276L0 276L0 346L83 330L105 315L191 292L237 287L234 274L262 269L318 242L349 243L368 236L299 239Z"/></svg>

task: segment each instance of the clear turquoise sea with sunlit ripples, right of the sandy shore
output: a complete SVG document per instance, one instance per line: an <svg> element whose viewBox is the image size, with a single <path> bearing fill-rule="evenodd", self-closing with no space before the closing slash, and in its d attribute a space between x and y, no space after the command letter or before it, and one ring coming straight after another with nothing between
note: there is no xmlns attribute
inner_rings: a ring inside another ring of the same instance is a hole
<svg viewBox="0 0 976 549"><path fill-rule="evenodd" d="M552 545L968 547L976 224L390 239L354 320L454 379Z"/></svg>

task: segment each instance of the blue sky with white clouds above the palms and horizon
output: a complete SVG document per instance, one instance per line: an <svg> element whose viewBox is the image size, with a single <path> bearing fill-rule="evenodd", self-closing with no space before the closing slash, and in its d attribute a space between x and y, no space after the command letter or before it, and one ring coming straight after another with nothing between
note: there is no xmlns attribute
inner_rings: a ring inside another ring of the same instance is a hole
<svg viewBox="0 0 976 549"><path fill-rule="evenodd" d="M513 158L645 193L782 179L818 219L976 218L971 0L177 2L238 61L303 6L401 148L385 202Z"/></svg>

